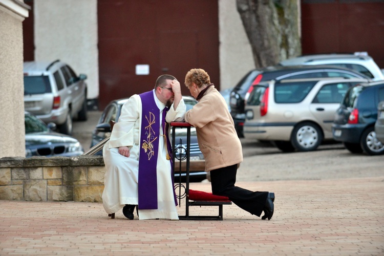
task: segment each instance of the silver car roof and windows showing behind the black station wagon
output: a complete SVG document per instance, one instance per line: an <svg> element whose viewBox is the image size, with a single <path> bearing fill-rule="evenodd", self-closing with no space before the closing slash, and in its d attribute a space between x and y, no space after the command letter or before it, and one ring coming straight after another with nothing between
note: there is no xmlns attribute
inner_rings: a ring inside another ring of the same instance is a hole
<svg viewBox="0 0 384 256"><path fill-rule="evenodd" d="M332 65L358 71L372 81L384 80L384 74L367 52L351 54L313 54L283 60L281 66L296 65Z"/></svg>

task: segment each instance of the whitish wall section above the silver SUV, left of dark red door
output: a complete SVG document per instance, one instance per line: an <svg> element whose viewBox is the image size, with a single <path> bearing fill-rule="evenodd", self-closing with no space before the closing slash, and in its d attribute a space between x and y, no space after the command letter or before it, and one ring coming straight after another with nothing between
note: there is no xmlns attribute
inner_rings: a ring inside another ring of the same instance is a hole
<svg viewBox="0 0 384 256"><path fill-rule="evenodd" d="M99 95L97 0L35 0L35 60L67 62L88 76L88 99Z"/></svg>

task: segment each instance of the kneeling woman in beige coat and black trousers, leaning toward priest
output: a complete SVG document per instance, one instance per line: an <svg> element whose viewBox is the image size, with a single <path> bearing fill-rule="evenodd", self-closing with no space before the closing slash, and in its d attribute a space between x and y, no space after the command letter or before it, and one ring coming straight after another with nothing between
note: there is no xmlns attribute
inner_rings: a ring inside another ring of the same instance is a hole
<svg viewBox="0 0 384 256"><path fill-rule="evenodd" d="M198 143L210 172L212 194L228 197L234 204L270 220L274 193L250 191L234 185L237 166L243 161L242 146L223 96L202 69L191 69L185 86L199 102L185 114L185 121L196 127Z"/></svg>

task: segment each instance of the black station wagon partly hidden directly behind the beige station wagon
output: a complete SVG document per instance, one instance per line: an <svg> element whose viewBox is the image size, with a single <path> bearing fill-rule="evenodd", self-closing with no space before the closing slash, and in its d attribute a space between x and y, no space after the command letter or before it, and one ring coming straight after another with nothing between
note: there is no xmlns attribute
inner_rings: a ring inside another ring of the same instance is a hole
<svg viewBox="0 0 384 256"><path fill-rule="evenodd" d="M274 66L264 69L255 69L248 72L233 88L230 93L230 113L239 137L243 136L245 121L244 103L248 99L253 86L262 81L319 78L319 77L344 77L344 78L365 78L369 77L346 68L332 66Z"/></svg>

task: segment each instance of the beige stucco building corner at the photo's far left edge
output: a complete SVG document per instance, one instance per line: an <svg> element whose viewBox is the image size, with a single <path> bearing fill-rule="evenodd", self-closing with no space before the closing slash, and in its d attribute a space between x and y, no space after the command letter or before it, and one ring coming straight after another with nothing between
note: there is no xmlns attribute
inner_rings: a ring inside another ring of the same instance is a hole
<svg viewBox="0 0 384 256"><path fill-rule="evenodd" d="M9 6L13 4L0 1L0 158L25 157L22 23L25 16L14 12Z"/></svg>

